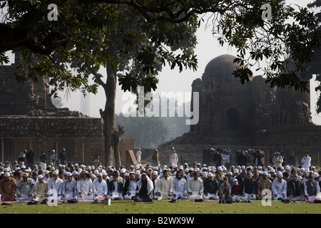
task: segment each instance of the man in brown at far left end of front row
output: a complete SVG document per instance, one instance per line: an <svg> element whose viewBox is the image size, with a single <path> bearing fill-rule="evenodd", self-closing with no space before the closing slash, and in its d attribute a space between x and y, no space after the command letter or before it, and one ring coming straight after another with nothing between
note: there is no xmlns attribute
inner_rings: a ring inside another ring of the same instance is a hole
<svg viewBox="0 0 321 228"><path fill-rule="evenodd" d="M14 201L16 193L16 180L10 177L10 172L4 174L4 179L0 180L1 201Z"/></svg>

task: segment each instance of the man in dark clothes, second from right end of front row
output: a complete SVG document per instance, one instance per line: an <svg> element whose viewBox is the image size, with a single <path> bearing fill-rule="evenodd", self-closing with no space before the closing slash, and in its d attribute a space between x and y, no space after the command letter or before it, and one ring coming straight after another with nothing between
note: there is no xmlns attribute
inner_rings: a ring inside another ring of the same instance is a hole
<svg viewBox="0 0 321 228"><path fill-rule="evenodd" d="M294 202L305 200L305 187L296 173L287 181L287 198Z"/></svg>

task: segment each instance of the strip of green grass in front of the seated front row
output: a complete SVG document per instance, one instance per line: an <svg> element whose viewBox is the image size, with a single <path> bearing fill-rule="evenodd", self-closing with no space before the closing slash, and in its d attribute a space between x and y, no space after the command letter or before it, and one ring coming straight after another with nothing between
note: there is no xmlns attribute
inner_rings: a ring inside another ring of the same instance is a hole
<svg viewBox="0 0 321 228"><path fill-rule="evenodd" d="M218 204L218 201L179 200L178 203L169 203L167 200L155 200L153 203L134 203L130 200L115 200L111 201L111 205L78 202L49 206L16 202L0 205L0 214L321 214L321 204L272 201L271 206L263 206L260 201Z"/></svg>

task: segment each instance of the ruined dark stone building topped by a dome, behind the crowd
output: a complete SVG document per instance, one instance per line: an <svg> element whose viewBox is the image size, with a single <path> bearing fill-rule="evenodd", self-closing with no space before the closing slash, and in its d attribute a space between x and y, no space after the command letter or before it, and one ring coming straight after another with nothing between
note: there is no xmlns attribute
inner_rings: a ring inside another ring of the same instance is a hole
<svg viewBox="0 0 321 228"><path fill-rule="evenodd" d="M190 126L191 132L253 145L255 135L312 124L310 94L270 88L262 76L250 77L242 84L232 75L240 67L233 63L235 58L213 58L202 78L193 81L192 92L198 92L200 100L199 122Z"/></svg>

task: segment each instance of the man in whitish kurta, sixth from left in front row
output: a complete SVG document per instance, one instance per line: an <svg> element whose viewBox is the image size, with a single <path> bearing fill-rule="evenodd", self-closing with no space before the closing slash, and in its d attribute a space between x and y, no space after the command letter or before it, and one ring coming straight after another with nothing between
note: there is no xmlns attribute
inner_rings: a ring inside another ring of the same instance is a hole
<svg viewBox="0 0 321 228"><path fill-rule="evenodd" d="M81 179L77 180L78 200L93 200L93 182L87 171L81 172Z"/></svg>

